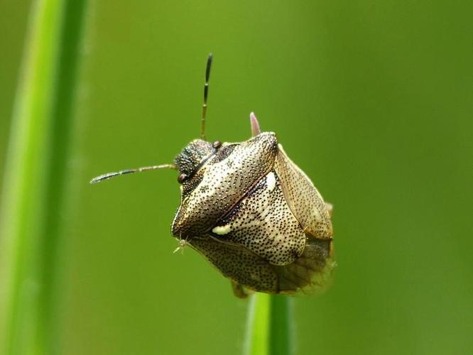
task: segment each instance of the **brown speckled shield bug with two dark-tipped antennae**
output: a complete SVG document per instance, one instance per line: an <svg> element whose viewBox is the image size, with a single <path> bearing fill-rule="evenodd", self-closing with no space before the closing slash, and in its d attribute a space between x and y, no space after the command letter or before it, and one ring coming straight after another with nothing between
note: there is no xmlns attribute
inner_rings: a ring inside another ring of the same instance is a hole
<svg viewBox="0 0 473 355"><path fill-rule="evenodd" d="M100 182L146 170L178 170L181 202L171 231L232 281L235 295L293 294L324 288L335 267L332 207L295 165L273 132L250 114L249 140L205 139L212 55L205 70L200 139L173 164L107 173Z"/></svg>

